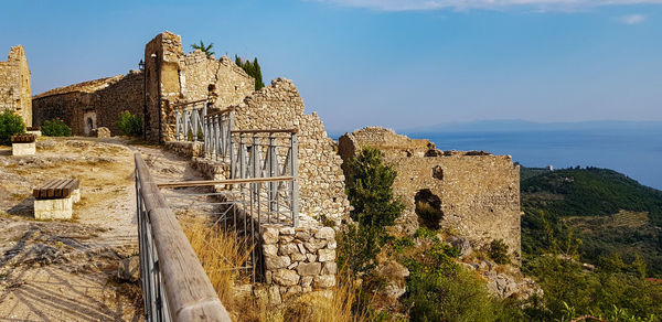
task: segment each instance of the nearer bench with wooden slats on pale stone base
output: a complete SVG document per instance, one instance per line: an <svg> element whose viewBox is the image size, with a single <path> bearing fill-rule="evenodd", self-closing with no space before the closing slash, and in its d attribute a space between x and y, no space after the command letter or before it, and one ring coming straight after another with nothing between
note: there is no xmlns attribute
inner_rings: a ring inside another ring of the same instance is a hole
<svg viewBox="0 0 662 322"><path fill-rule="evenodd" d="M32 191L36 219L71 219L73 204L81 201L78 179L50 180Z"/></svg>

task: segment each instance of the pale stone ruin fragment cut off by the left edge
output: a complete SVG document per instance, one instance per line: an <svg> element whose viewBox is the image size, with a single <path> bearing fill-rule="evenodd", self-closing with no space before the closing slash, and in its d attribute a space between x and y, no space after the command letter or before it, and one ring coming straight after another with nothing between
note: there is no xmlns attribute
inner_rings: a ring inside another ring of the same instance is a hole
<svg viewBox="0 0 662 322"><path fill-rule="evenodd" d="M11 47L9 57L0 62L0 111L13 110L25 126L32 126L32 89L30 67L23 46Z"/></svg>

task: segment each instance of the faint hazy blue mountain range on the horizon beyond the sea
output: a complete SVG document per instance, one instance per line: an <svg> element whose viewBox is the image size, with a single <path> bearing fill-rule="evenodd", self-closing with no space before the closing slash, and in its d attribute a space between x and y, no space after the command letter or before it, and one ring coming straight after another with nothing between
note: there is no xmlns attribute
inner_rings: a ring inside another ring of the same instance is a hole
<svg viewBox="0 0 662 322"><path fill-rule="evenodd" d="M401 129L405 133L444 132L527 132L527 131L573 131L573 130L659 130L662 121L579 121L579 122L534 122L527 120L480 120L471 122L448 122L415 129Z"/></svg>

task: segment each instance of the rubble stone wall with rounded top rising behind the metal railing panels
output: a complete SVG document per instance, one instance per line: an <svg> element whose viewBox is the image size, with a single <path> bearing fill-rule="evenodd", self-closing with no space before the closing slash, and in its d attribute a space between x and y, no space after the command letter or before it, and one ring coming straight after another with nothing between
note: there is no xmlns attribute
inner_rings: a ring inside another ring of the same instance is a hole
<svg viewBox="0 0 662 322"><path fill-rule="evenodd" d="M346 217L350 205L335 142L316 112L303 112L303 99L291 80L274 79L235 108L236 129L298 129L301 213L337 223Z"/></svg>

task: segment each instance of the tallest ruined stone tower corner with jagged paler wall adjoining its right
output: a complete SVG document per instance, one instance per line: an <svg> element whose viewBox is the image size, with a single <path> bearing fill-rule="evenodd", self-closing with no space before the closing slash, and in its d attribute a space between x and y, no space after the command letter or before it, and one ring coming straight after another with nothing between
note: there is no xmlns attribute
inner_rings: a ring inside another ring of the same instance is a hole
<svg viewBox="0 0 662 322"><path fill-rule="evenodd" d="M163 32L145 49L147 76L147 139L173 139L172 106L212 99L223 108L239 104L255 89L255 79L228 57L216 60L202 51L184 54L181 36Z"/></svg>

